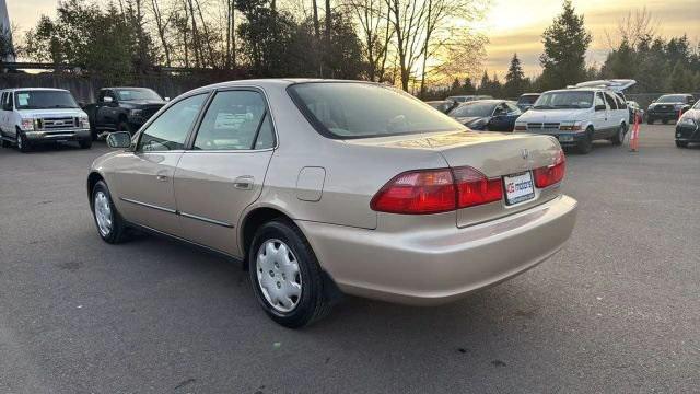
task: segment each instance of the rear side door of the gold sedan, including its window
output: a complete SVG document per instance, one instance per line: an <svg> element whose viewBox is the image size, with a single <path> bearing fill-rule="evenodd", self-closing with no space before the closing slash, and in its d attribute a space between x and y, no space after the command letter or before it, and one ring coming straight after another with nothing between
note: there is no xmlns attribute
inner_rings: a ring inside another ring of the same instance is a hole
<svg viewBox="0 0 700 394"><path fill-rule="evenodd" d="M273 147L272 121L259 91L215 93L175 172L184 237L242 255L238 219L260 195Z"/></svg>

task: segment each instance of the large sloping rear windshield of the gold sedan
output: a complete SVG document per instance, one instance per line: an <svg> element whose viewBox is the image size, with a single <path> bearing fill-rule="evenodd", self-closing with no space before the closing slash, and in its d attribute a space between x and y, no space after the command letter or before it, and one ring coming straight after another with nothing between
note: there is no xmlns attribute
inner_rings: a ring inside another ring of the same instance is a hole
<svg viewBox="0 0 700 394"><path fill-rule="evenodd" d="M298 107L330 138L370 138L465 127L397 89L353 82L310 82L289 86Z"/></svg>

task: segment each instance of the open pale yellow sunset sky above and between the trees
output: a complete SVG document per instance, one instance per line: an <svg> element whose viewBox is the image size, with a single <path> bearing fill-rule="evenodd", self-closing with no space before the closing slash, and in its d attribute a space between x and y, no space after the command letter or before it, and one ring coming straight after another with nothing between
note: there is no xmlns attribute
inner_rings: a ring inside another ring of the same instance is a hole
<svg viewBox="0 0 700 394"><path fill-rule="evenodd" d="M52 16L57 4L57 0L5 1L11 20L21 30L33 26L43 13ZM573 3L585 15L586 27L594 36L588 62L602 63L605 59L606 30L612 31L619 19L643 7L655 18L661 35L669 37L687 33L692 43L700 39L700 0L574 0ZM489 73L498 72L503 79L513 53L522 58L526 74L539 73L537 59L542 51L541 33L560 11L561 0L493 0L480 23L490 39L485 65Z"/></svg>

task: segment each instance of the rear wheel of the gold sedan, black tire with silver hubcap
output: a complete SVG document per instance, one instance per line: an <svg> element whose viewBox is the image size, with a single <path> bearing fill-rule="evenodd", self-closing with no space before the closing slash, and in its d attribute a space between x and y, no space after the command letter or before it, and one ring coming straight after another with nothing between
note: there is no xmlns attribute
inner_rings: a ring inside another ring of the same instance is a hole
<svg viewBox="0 0 700 394"><path fill-rule="evenodd" d="M258 302L278 324L299 328L329 313L323 271L293 222L276 219L257 230L248 252L248 268Z"/></svg>

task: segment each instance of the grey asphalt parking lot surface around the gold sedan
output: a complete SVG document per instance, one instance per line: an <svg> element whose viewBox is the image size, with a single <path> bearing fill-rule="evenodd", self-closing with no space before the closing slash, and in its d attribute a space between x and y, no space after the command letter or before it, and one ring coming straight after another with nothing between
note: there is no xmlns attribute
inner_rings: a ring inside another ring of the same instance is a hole
<svg viewBox="0 0 700 394"><path fill-rule="evenodd" d="M107 151L0 150L0 393L639 393L700 387L700 147L568 155L576 229L550 260L445 306L348 298L271 322L236 264L100 240Z"/></svg>

